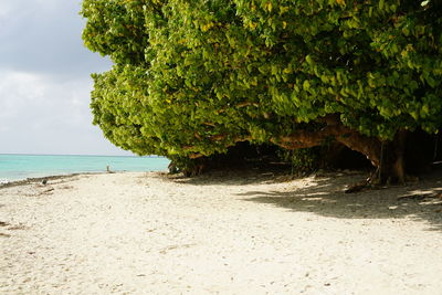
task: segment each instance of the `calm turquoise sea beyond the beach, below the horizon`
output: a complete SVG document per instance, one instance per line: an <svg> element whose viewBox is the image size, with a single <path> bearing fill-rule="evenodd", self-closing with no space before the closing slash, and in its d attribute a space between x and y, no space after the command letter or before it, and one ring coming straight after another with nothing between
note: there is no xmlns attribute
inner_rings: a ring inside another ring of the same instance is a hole
<svg viewBox="0 0 442 295"><path fill-rule="evenodd" d="M2 155L0 183L27 178L110 171L161 171L169 160L148 156Z"/></svg>

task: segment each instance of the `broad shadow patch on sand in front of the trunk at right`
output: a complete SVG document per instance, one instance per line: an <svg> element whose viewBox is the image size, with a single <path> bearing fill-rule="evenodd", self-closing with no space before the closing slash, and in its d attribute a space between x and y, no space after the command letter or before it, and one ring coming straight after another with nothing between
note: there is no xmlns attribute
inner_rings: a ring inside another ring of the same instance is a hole
<svg viewBox="0 0 442 295"><path fill-rule="evenodd" d="M360 175L361 177L361 175ZM359 178L360 178L359 177ZM243 200L270 203L293 212L312 212L343 219L401 219L427 221L442 231L442 170L419 182L345 193L356 176L309 177L296 180L290 191L248 191ZM304 181L304 185L303 182Z"/></svg>

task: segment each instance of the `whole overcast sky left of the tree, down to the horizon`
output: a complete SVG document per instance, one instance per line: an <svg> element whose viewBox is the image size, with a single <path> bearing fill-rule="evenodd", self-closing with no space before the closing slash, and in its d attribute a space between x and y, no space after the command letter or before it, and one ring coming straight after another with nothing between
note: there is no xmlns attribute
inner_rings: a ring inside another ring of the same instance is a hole
<svg viewBox="0 0 442 295"><path fill-rule="evenodd" d="M0 154L130 155L92 125L81 0L0 0Z"/></svg>

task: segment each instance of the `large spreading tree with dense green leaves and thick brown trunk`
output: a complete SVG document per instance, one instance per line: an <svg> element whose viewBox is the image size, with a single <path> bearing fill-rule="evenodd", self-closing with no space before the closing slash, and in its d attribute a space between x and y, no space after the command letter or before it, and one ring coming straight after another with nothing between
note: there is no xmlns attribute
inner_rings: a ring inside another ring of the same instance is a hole
<svg viewBox="0 0 442 295"><path fill-rule="evenodd" d="M435 0L84 0L94 124L139 155L336 140L403 181L407 133L442 126Z"/></svg>

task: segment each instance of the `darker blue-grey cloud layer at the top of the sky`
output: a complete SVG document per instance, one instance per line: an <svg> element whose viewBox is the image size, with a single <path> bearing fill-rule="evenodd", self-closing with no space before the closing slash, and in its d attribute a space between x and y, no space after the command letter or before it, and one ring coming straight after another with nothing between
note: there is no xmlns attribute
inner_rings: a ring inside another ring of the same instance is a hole
<svg viewBox="0 0 442 295"><path fill-rule="evenodd" d="M80 9L80 0L1 0L0 66L57 78L109 69L83 46Z"/></svg>

